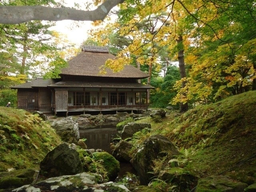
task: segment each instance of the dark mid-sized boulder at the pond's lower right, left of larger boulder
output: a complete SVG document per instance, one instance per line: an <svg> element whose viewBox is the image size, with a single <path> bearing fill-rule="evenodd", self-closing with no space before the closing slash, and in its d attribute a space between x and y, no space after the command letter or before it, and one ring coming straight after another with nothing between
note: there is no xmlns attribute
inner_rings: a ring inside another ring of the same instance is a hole
<svg viewBox="0 0 256 192"><path fill-rule="evenodd" d="M132 144L127 141L120 140L114 148L113 156L120 162L130 162L131 158L129 156L129 152L131 149Z"/></svg>

